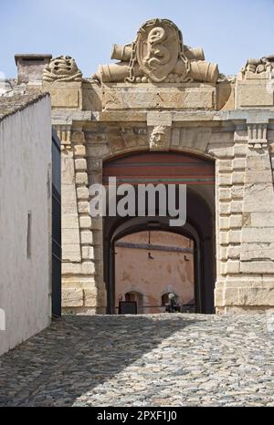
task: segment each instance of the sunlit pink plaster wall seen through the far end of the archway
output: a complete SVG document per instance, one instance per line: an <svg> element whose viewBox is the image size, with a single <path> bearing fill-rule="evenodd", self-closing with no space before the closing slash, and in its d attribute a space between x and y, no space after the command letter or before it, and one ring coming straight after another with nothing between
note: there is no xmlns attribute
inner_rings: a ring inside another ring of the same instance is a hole
<svg viewBox="0 0 274 425"><path fill-rule="evenodd" d="M151 244L192 248L193 241L184 236L160 231L153 231ZM149 233L133 233L119 242L131 244L148 244ZM150 259L148 253L153 259ZM174 292L178 302L187 304L195 297L194 293L194 260L193 254L148 251L140 248L115 247L115 305L119 298L125 300L128 292L143 295L142 311L139 313L160 313L164 311L162 295ZM145 306L158 306L145 308Z"/></svg>

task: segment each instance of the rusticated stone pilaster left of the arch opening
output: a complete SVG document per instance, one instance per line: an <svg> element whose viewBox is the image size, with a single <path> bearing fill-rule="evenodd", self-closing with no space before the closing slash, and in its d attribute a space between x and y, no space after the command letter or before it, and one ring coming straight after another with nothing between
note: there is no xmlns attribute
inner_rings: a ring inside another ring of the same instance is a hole
<svg viewBox="0 0 274 425"><path fill-rule="evenodd" d="M97 313L85 135L81 129L69 129L69 133L61 133L59 137L63 140L62 172L65 174L62 183L62 305L67 312Z"/></svg>

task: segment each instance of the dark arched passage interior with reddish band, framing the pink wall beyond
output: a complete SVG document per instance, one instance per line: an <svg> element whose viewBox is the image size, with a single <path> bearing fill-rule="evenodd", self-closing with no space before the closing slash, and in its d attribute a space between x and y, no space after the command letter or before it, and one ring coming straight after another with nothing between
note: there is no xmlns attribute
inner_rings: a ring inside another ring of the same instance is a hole
<svg viewBox="0 0 274 425"><path fill-rule="evenodd" d="M194 155L189 155L182 153L178 155L178 152L174 154L174 152L157 152L158 158L161 157L161 154L163 155L163 158L165 160L171 160L175 159L175 161L180 160L186 160L189 161L191 159L191 165L194 165L196 167L197 164L200 164L200 171L199 171L199 177L197 178L198 181L196 181L196 186L199 184L205 184L208 181L203 181L203 173L201 174L201 170L203 170L203 167L209 167L211 172L211 178L210 184L212 189L212 198L210 202L206 202L206 196L203 197L201 195L201 189L198 187L195 187L195 189L189 189L187 194L187 199L189 204L188 212L187 212L187 223L186 226L184 226L184 230L182 229L174 229L174 233L178 234L184 234L185 236L189 237L190 239L193 239L195 241L195 293L196 293L196 301L197 301L197 311L203 312L203 313L212 313L214 311L214 301L213 301L213 292L214 292L214 285L215 285L215 204L214 204L214 172L215 172L215 164L214 162L205 161L204 159L197 158ZM121 173L119 172L119 169L122 170L122 172L127 170L127 160L130 160L130 164L135 164L134 166L138 168L137 162L134 162L137 158L140 160L143 159L155 159L157 158L157 155L153 152L142 152L137 153L137 155L119 155L115 156L114 159L108 160L104 162L103 165L103 181L105 181L105 178L110 176L111 173L116 173L116 177L120 179ZM126 161L124 161L126 159ZM131 162L133 161L133 162ZM140 162L142 163L142 161ZM177 162L178 163L178 162ZM110 167L111 164L111 167ZM147 165L147 164L145 164ZM157 164L158 165L158 164ZM187 168L189 164L185 165L185 168ZM184 165L180 165L179 167L184 168ZM112 170L111 170L112 168ZM156 167L157 168L157 167ZM174 167L175 168L175 167ZM111 171L110 171L111 170ZM115 170L115 171L113 171ZM118 170L118 171L117 171ZM161 167L160 169L157 169L157 172L162 171ZM184 182L192 181L194 170L192 170L192 174L184 172L183 174L178 175L176 172L173 174L173 181L179 182L180 178L181 180L184 179ZM209 172L209 171L208 171ZM134 172L133 172L134 174ZM136 173L135 173L136 174ZM142 173L141 173L142 174ZM124 177L124 176L123 176ZM129 177L129 176L128 176ZM134 175L133 175L134 177ZM131 182L131 178L127 182ZM136 175L135 175L136 177ZM138 172L137 172L138 177ZM143 176L142 176L143 177ZM147 176L146 176L147 177ZM152 177L152 174L151 174ZM153 181L157 181L157 177L159 175L153 174ZM205 177L205 175L204 175ZM164 181L165 183L168 183L168 176L165 174ZM161 180L161 179L160 179ZM134 181L132 181L134 183ZM138 182L135 181L135 183ZM195 185L194 185L195 186ZM201 216L199 214L201 213ZM115 284L113 283L113 267L114 265L114 259L113 259L113 251L114 251L114 243L116 240L120 239L123 235L134 233L134 232L140 232L141 230L148 230L151 226L152 218L149 217L150 220L147 220L147 217L142 220L138 221L138 218L136 217L135 221L133 218L119 218L119 217L107 217L104 220L104 281L107 286L107 293L108 293L108 312L113 313L113 291ZM158 229L159 230L165 230L169 231L168 225L166 223L167 218L164 217L164 220L159 220L159 216L155 216L155 219L158 221ZM154 224L153 224L154 225ZM155 229L155 227L153 227ZM204 284L202 285L202 281Z"/></svg>

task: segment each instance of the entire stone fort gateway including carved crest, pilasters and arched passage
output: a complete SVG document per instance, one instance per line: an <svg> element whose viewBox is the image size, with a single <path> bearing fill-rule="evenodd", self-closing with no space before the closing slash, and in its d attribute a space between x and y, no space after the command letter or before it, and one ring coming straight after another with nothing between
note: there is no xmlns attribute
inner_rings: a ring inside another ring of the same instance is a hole
<svg viewBox="0 0 274 425"><path fill-rule="evenodd" d="M147 237L161 252L167 232L176 253L193 255L196 312L273 309L274 56L248 59L227 77L202 48L184 45L173 22L152 19L132 43L114 45L111 59L83 78L72 57L16 55L14 90L50 93L61 142L64 309L115 313L119 252L144 241L149 249ZM89 187L109 177L184 183L186 223L171 231L157 213L91 217Z"/></svg>

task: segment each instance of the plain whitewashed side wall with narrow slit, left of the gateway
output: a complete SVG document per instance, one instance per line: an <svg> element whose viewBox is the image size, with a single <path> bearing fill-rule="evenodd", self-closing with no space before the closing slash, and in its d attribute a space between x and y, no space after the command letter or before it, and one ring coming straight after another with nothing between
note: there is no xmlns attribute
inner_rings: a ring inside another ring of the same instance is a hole
<svg viewBox="0 0 274 425"><path fill-rule="evenodd" d="M0 122L0 355L50 323L50 113L46 96Z"/></svg>

